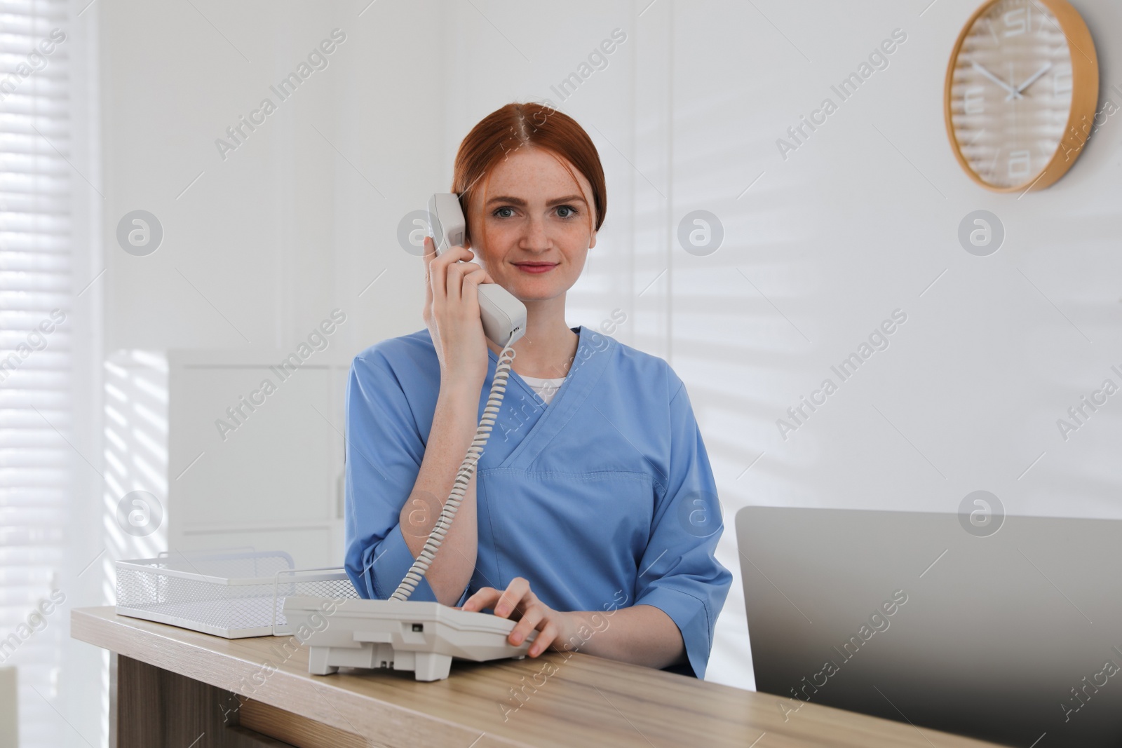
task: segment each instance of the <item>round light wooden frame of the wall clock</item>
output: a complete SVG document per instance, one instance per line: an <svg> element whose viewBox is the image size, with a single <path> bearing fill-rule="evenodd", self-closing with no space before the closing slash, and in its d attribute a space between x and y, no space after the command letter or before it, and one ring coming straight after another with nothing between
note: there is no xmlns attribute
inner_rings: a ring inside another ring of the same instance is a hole
<svg viewBox="0 0 1122 748"><path fill-rule="evenodd" d="M978 183L992 192L1028 192L1029 190L1043 190L1054 184L1067 170L1075 165L1083 147L1091 137L1091 128L1094 122L1096 107L1098 105L1098 56L1095 54L1095 43L1091 37L1091 30L1083 20L1083 16L1068 0L1030 0L1033 4L1047 8L1060 30L1067 37L1068 49L1072 54L1072 107L1068 112L1067 124L1064 129L1064 137L1059 141L1059 147L1052 155L1048 164L1037 172L1030 179L1009 187L992 185L971 168L969 161L963 156L958 138L955 136L954 122L950 117L950 90L955 81L955 67L958 55L962 53L963 43L966 36L974 28L974 24L993 6L1002 0L986 0L974 11L969 20L963 26L955 48L950 53L950 62L947 64L947 79L944 84L942 112L947 123L947 137L950 139L950 149L955 151L955 157L959 165L974 182Z"/></svg>

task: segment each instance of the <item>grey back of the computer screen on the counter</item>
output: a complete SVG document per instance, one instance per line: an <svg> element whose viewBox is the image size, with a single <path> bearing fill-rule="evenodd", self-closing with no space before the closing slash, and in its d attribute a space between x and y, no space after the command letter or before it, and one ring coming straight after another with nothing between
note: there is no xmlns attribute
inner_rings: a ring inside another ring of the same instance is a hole
<svg viewBox="0 0 1122 748"><path fill-rule="evenodd" d="M1122 520L975 519L741 509L756 690L787 720L809 702L1024 748L1122 745Z"/></svg>

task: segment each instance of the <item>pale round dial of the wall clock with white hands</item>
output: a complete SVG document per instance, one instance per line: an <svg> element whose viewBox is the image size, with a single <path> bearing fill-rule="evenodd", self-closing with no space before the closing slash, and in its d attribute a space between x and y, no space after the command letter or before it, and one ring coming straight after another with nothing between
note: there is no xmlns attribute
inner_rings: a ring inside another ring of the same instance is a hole
<svg viewBox="0 0 1122 748"><path fill-rule="evenodd" d="M951 65L948 114L963 160L990 186L1031 185L1072 111L1072 49L1056 17L1037 0L997 0Z"/></svg>

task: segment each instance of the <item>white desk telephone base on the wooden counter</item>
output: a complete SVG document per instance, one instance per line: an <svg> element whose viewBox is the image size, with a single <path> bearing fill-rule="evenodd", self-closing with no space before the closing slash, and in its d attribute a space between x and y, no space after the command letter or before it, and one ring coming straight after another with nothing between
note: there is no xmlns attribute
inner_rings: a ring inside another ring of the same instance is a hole
<svg viewBox="0 0 1122 748"><path fill-rule="evenodd" d="M333 613L324 612L328 603ZM293 631L311 631L302 644L309 647L312 675L340 667L393 668L413 671L417 681L440 681L448 677L452 657L522 659L537 636L531 631L515 647L506 640L515 627L508 618L413 600L291 597L284 615Z"/></svg>

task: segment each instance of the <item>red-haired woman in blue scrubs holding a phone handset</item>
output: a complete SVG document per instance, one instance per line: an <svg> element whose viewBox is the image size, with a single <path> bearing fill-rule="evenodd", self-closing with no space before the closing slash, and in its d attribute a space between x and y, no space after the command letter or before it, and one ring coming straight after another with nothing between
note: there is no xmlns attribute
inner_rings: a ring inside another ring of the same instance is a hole
<svg viewBox="0 0 1122 748"><path fill-rule="evenodd" d="M456 156L468 231L425 240L426 330L356 357L347 390L347 571L393 594L471 444L502 349L478 285L526 305L496 427L412 600L493 609L508 640L703 677L732 574L714 557L716 484L665 361L570 329L565 293L604 222L599 156L540 104L488 114ZM618 318L618 317L617 317Z"/></svg>

